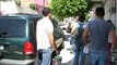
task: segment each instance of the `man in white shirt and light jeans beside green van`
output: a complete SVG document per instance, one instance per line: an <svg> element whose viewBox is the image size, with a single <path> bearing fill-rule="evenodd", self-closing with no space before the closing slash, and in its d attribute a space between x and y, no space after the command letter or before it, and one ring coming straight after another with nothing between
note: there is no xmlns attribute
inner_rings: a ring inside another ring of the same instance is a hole
<svg viewBox="0 0 117 65"><path fill-rule="evenodd" d="M44 17L37 22L36 26L36 40L37 40L37 51L42 51L42 62L40 65L50 65L52 50L59 53L54 39L54 26L50 21L51 10L45 8L43 10Z"/></svg>

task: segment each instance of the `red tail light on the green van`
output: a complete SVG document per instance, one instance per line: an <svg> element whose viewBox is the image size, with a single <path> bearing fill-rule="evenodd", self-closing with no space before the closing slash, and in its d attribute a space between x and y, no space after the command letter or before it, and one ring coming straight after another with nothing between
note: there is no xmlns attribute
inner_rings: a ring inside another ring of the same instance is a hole
<svg viewBox="0 0 117 65"><path fill-rule="evenodd" d="M24 54L34 54L34 46L32 42L27 41L24 44Z"/></svg>

